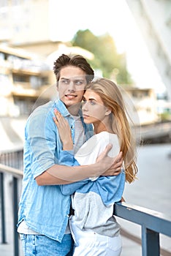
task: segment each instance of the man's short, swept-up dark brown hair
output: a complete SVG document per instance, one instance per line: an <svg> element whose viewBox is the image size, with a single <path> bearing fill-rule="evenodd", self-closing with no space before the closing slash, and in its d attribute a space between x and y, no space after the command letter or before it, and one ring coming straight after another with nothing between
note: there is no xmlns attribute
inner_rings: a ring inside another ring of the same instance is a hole
<svg viewBox="0 0 171 256"><path fill-rule="evenodd" d="M90 64L88 64L88 62L85 58L83 58L83 56L68 56L66 54L62 54L58 57L58 59L56 59L53 66L53 72L56 75L57 81L60 78L61 69L67 66L80 67L80 69L86 72L87 83L91 82L91 80L94 79L94 69L91 68Z"/></svg>

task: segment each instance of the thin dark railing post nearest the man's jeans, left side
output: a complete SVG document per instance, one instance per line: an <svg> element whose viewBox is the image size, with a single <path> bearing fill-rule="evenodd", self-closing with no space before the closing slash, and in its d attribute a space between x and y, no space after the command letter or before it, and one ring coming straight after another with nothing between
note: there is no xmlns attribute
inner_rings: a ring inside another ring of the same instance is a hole
<svg viewBox="0 0 171 256"><path fill-rule="evenodd" d="M14 255L19 255L18 246L18 179L13 177L13 225L14 225Z"/></svg>

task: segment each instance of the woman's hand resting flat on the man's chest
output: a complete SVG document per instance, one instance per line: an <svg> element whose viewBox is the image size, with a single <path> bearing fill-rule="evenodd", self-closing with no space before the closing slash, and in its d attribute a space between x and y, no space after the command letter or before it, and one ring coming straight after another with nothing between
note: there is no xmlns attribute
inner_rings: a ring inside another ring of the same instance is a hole
<svg viewBox="0 0 171 256"><path fill-rule="evenodd" d="M53 121L58 127L58 133L61 138L61 143L63 144L63 150L72 150L72 134L71 129L69 127L68 121L58 112L55 108L54 110L55 117L53 117Z"/></svg>

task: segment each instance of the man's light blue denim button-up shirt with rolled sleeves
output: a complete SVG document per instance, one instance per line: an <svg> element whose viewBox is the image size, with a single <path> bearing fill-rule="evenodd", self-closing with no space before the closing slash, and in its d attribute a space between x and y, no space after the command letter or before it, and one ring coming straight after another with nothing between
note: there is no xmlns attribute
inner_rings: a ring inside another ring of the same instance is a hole
<svg viewBox="0 0 171 256"><path fill-rule="evenodd" d="M53 121L54 108L69 121L72 139L75 139L75 119L61 100L48 102L29 116L25 128L23 190L18 225L24 219L31 230L60 242L69 218L70 196L63 195L58 185L38 186L35 181L45 170L58 164L58 155L62 150L58 129ZM93 135L93 128L84 123L83 127L87 140Z"/></svg>

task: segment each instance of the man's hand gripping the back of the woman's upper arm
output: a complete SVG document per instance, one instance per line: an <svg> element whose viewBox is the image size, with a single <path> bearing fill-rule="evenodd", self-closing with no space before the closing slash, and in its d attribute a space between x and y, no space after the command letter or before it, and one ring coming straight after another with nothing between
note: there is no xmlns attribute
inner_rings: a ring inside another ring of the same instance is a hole
<svg viewBox="0 0 171 256"><path fill-rule="evenodd" d="M115 157L113 165L108 170L106 170L102 174L102 176L117 176L119 173L121 173L122 163L123 163L123 158L122 158L122 151L121 151L119 152L118 156Z"/></svg>

